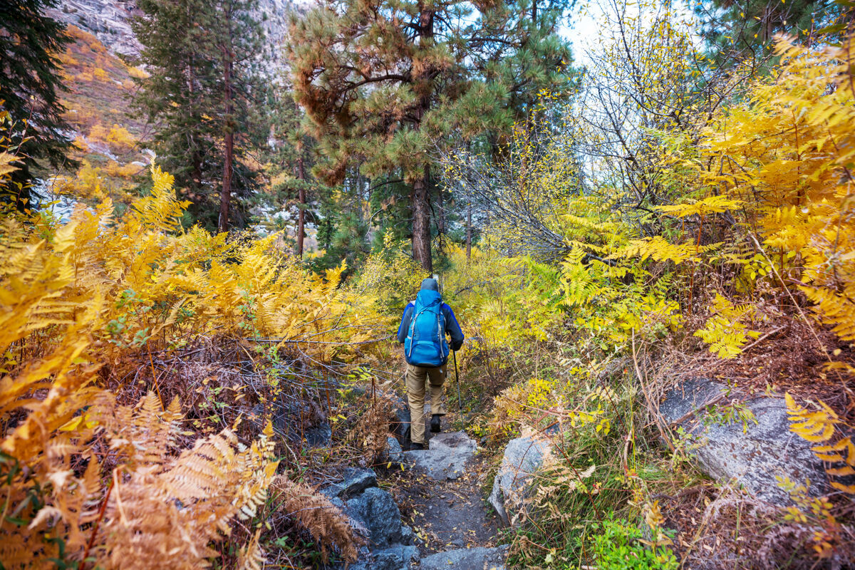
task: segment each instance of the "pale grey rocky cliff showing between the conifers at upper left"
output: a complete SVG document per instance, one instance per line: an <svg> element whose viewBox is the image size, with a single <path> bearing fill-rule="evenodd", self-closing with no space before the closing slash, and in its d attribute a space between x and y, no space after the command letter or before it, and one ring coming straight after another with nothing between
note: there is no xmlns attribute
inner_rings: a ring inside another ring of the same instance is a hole
<svg viewBox="0 0 855 570"><path fill-rule="evenodd" d="M298 9L290 0L259 0L258 20L262 21L270 43L270 59L280 67L280 44L285 36L288 17ZM122 56L136 56L140 45L131 29L131 18L139 15L135 0L62 0L58 9L49 11L59 21L73 24L94 35L110 51Z"/></svg>

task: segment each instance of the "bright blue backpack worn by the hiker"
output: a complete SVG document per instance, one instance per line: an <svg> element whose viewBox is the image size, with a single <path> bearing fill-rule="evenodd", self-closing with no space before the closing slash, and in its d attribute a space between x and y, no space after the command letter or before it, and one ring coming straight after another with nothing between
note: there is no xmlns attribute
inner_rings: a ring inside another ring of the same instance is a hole
<svg viewBox="0 0 855 570"><path fill-rule="evenodd" d="M404 357L413 366L439 367L448 361L445 314L436 291L419 291L404 340Z"/></svg>

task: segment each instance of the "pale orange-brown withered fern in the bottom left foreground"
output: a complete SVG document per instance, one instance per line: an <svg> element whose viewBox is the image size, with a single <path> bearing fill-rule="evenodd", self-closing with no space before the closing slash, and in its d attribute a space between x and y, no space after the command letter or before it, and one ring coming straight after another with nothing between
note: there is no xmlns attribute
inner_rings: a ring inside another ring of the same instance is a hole
<svg viewBox="0 0 855 570"><path fill-rule="evenodd" d="M136 413L155 431L164 416L144 398ZM174 408L170 406L170 408ZM274 477L272 426L250 447L229 430L198 440L192 450L158 466L140 466L115 487L98 535L96 557L105 567L150 568L169 560L172 568L206 566L216 555L212 541L231 532L230 523L255 514ZM257 546L257 545L256 545ZM246 561L258 561L257 548ZM166 557L166 558L164 558Z"/></svg>

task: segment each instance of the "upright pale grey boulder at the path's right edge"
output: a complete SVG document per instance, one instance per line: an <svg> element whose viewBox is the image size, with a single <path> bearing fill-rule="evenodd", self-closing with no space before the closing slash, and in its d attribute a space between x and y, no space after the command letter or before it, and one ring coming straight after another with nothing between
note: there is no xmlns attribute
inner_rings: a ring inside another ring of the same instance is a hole
<svg viewBox="0 0 855 570"><path fill-rule="evenodd" d="M534 473L550 452L549 440L534 436L511 439L504 448L502 464L498 467L487 500L505 525L512 524L524 509L533 491Z"/></svg>

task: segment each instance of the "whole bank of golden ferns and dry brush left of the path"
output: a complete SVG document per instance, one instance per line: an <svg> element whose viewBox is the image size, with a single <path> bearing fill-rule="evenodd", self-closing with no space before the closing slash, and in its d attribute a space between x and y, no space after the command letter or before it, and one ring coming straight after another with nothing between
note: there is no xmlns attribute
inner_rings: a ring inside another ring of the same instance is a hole
<svg viewBox="0 0 855 570"><path fill-rule="evenodd" d="M171 176L151 176L121 219L109 200L65 224L3 215L3 567L256 568L277 511L354 560L357 530L286 473L331 462L305 432L335 415L343 362L382 356L382 319L354 310L344 267L183 231Z"/></svg>

